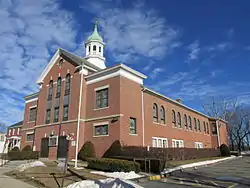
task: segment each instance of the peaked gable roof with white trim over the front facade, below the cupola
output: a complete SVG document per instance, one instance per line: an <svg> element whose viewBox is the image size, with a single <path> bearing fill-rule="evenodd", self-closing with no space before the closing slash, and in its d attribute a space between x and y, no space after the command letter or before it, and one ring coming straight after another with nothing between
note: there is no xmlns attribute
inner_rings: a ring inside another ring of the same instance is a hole
<svg viewBox="0 0 250 188"><path fill-rule="evenodd" d="M92 63L88 62L85 58L80 57L78 55L75 55L75 54L73 54L71 52L68 52L67 50L64 50L62 48L58 48L58 50L56 51L54 56L51 58L48 65L45 67L45 69L43 70L43 72L41 73L39 78L37 79L37 82L36 82L37 84L43 82L43 79L49 73L50 69L53 67L53 65L56 63L56 60L60 56L64 56L64 57L68 58L71 62L75 63L75 66L79 66L79 65L83 64L83 66L86 67L89 70L92 70L92 71L101 70L101 68L99 68L99 67L93 65Z"/></svg>

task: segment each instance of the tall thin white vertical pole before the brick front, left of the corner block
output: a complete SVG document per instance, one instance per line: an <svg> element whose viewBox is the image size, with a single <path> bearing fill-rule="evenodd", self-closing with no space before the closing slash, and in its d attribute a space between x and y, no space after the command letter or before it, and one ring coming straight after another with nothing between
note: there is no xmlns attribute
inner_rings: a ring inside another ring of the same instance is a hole
<svg viewBox="0 0 250 188"><path fill-rule="evenodd" d="M81 66L81 81L80 81L80 93L78 104L78 117L77 117L77 130L76 130L76 151L75 151L75 168L77 168L78 147L79 147L79 132L80 132L80 118L81 118L81 106L82 106L82 81L83 81L83 62Z"/></svg>

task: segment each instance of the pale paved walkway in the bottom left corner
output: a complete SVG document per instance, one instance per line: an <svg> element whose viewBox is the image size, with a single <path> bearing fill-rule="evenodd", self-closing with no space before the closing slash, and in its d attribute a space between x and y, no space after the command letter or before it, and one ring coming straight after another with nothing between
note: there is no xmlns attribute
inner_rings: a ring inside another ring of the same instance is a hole
<svg viewBox="0 0 250 188"><path fill-rule="evenodd" d="M23 161L11 161L8 164L4 165L3 167L0 167L0 188L35 188L34 186L27 184L21 180L17 180L14 178L11 178L9 176L5 176L4 173L9 172L13 169L15 169L17 166L22 164Z"/></svg>

